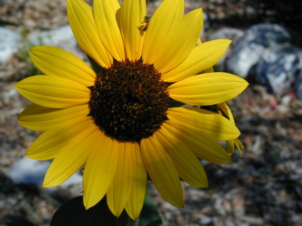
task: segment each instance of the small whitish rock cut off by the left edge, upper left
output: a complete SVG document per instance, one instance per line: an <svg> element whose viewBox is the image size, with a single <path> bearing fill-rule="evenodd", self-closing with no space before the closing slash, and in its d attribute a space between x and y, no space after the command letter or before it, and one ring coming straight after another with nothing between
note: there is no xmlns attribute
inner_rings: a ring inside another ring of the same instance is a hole
<svg viewBox="0 0 302 226"><path fill-rule="evenodd" d="M21 35L17 32L0 27L0 64L7 63L18 51Z"/></svg>

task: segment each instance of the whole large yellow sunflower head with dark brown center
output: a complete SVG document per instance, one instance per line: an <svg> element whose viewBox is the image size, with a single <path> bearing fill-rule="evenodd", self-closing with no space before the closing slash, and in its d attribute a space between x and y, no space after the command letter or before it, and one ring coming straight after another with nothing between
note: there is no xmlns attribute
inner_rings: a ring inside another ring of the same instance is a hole
<svg viewBox="0 0 302 226"><path fill-rule="evenodd" d="M147 174L171 204L184 206L180 178L207 187L198 158L231 162L218 141L236 139L235 124L196 107L240 94L248 83L228 73L203 73L231 41L196 46L202 10L183 16L183 0L165 0L146 19L145 0L67 0L69 24L94 70L62 49L30 50L45 74L23 79L18 91L33 104L19 116L28 129L44 132L26 155L53 159L44 187L59 185L85 166L84 205L105 195L113 214L136 219ZM146 23L142 29L141 24Z"/></svg>

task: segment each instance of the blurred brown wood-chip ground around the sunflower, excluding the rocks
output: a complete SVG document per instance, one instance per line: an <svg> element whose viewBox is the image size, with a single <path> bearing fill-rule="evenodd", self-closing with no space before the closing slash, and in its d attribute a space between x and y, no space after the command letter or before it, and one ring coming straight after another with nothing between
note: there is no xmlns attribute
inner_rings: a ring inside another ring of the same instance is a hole
<svg viewBox="0 0 302 226"><path fill-rule="evenodd" d="M90 4L92 1L87 1ZM222 27L245 29L256 23L278 23L288 30L292 44L302 47L302 6L298 1L188 0L186 9L202 7L207 14L207 40ZM160 1L149 1L152 15ZM0 64L0 224L25 218L49 225L53 212L65 200L80 195L81 187L41 189L39 185L16 183L8 175L24 156L37 132L17 124L18 114L29 105L14 84L38 73L29 61L27 37L67 25L66 3L61 0L2 0L0 27L21 34L19 51ZM24 40L24 41L23 41ZM203 162L209 188L183 184L185 208L165 202L149 185L164 225L302 225L302 101L295 93L276 97L251 82L247 90L229 102L242 132L245 148L236 152L231 164Z"/></svg>

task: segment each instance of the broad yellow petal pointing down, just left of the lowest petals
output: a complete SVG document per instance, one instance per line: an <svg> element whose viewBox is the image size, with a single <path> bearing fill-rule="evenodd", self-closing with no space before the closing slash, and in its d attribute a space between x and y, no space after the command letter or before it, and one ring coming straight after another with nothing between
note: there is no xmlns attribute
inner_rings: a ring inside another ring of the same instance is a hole
<svg viewBox="0 0 302 226"><path fill-rule="evenodd" d="M116 171L119 158L117 141L103 135L88 157L83 175L84 205L88 209L106 194Z"/></svg>

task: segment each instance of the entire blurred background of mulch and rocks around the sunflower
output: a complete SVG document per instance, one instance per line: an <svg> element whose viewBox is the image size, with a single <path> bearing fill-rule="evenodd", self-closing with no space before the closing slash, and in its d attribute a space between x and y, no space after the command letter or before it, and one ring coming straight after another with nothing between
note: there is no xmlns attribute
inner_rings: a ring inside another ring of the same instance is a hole
<svg viewBox="0 0 302 226"><path fill-rule="evenodd" d="M147 1L150 16L160 3ZM170 205L149 184L164 225L302 225L302 2L185 1L185 13L200 7L201 40L233 40L215 71L250 82L228 102L245 148L227 165L203 161L209 188L183 184L185 208ZM0 224L28 219L49 225L54 211L82 191L80 173L41 188L49 162L24 157L39 133L18 125L30 102L14 84L40 73L28 56L36 45L86 60L68 26L65 1L0 0Z"/></svg>

